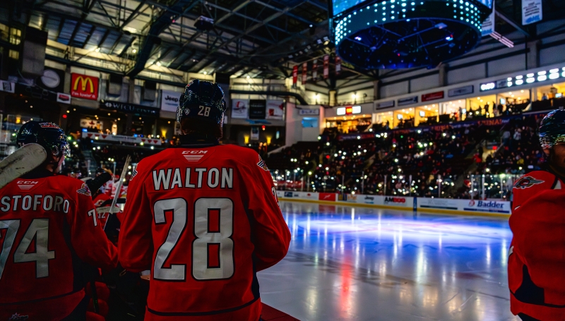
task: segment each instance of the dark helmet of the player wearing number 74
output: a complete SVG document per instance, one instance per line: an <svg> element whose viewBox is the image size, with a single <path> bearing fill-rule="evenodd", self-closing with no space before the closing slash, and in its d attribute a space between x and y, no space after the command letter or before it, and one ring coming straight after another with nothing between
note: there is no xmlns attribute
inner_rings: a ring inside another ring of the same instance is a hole
<svg viewBox="0 0 565 321"><path fill-rule="evenodd" d="M16 143L20 147L32 143L42 145L47 152L51 152L56 157L71 156L65 132L54 123L40 121L24 123L16 135Z"/></svg>

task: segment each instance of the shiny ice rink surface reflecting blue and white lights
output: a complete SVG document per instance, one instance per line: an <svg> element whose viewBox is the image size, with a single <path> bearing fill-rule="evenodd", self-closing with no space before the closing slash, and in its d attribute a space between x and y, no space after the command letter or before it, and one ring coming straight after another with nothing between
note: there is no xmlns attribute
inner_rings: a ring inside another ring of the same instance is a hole
<svg viewBox="0 0 565 321"><path fill-rule="evenodd" d="M520 320L508 219L280 202L292 241L258 273L261 300L299 320Z"/></svg>

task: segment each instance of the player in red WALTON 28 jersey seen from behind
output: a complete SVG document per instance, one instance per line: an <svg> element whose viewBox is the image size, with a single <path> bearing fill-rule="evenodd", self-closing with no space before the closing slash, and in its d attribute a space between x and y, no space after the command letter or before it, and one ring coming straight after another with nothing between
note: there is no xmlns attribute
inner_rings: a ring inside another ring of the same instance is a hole
<svg viewBox="0 0 565 321"><path fill-rule="evenodd" d="M267 166L253 150L218 144L224 112L222 89L193 80L177 109L181 146L143 159L131 178L119 261L150 269L145 320L257 321L256 272L287 253Z"/></svg>

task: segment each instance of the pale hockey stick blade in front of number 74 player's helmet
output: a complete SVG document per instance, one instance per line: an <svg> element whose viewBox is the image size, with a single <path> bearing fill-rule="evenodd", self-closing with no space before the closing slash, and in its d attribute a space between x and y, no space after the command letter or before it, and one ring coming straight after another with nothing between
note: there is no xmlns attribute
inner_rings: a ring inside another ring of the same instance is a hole
<svg viewBox="0 0 565 321"><path fill-rule="evenodd" d="M14 179L28 174L47 159L47 152L39 144L27 144L0 162L0 188Z"/></svg>

